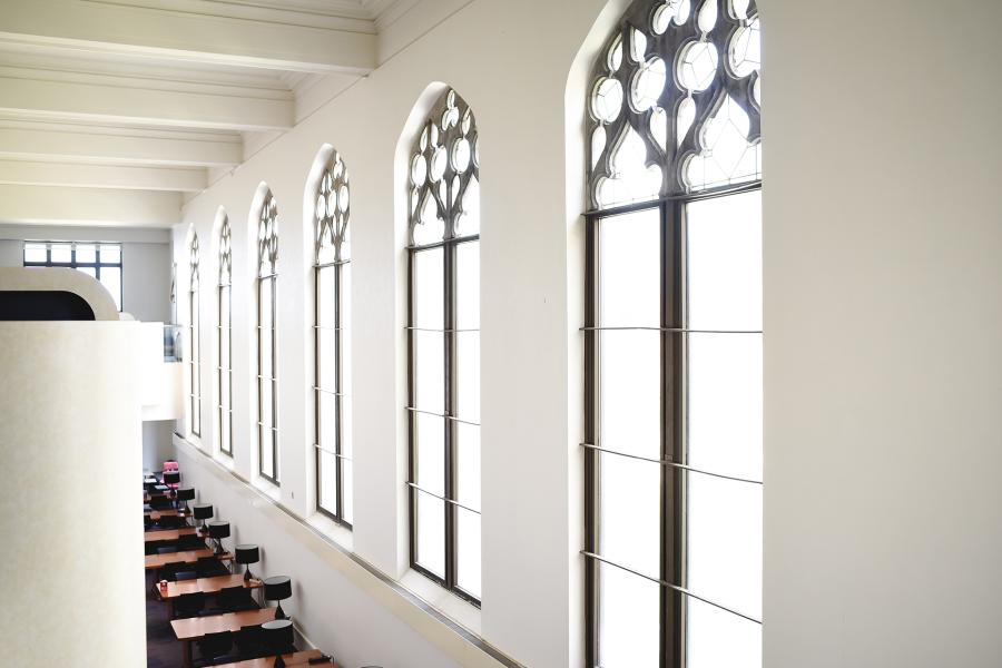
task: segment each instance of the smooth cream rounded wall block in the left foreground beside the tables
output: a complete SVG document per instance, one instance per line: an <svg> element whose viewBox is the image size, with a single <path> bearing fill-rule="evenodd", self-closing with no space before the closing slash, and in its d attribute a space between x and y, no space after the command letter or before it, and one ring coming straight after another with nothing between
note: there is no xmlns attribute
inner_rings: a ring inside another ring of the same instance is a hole
<svg viewBox="0 0 1002 668"><path fill-rule="evenodd" d="M4 666L145 664L136 330L0 324Z"/></svg>

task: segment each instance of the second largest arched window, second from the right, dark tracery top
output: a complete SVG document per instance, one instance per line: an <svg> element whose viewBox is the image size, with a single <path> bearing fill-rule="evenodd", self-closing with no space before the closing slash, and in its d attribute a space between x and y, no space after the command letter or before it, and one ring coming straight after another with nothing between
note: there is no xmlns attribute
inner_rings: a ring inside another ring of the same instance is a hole
<svg viewBox="0 0 1002 668"><path fill-rule="evenodd" d="M480 154L470 107L435 105L410 161L411 564L480 599Z"/></svg>

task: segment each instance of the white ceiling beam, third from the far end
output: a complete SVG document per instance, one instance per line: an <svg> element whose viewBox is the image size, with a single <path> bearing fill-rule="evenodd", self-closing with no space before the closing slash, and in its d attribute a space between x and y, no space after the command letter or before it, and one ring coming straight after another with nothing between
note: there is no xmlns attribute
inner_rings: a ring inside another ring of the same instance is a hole
<svg viewBox="0 0 1002 668"><path fill-rule="evenodd" d="M239 135L117 130L65 124L0 121L0 158L164 167L233 167Z"/></svg>

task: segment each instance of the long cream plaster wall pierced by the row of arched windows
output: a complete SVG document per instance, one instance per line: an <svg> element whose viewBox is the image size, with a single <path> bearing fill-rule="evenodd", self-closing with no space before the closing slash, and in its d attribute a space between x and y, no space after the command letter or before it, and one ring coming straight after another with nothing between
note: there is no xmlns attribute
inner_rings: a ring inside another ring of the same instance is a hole
<svg viewBox="0 0 1002 668"><path fill-rule="evenodd" d="M342 153L353 184L354 548L402 574L404 223L393 157L429 84L448 82L471 104L483 156L479 617L490 642L544 668L580 666L581 656L576 100L616 18L599 16L603 4L462 7L195 197L174 233L183 266L187 227L205 239L218 206L230 215L232 465L253 477L256 232L247 222L262 180L278 200L277 493L308 515L312 230L302 224L303 189L321 145ZM1002 42L993 32L1002 10L988 0L962 9L932 0L762 4L764 665L998 665L1002 97L993 81ZM202 303L204 322L214 322L213 299ZM210 330L204 336L212 350ZM215 433L212 410L203 422ZM204 484L215 492L215 482ZM342 592L320 571L307 577ZM354 651L334 626L316 633Z"/></svg>

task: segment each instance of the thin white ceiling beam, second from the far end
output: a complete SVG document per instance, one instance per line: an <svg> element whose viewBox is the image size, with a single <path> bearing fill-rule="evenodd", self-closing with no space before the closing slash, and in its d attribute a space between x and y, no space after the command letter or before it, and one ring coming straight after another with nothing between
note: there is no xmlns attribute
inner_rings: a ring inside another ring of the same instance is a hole
<svg viewBox="0 0 1002 668"><path fill-rule="evenodd" d="M124 190L199 193L206 187L205 168L125 167L0 160L0 184Z"/></svg>

